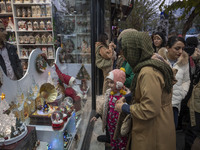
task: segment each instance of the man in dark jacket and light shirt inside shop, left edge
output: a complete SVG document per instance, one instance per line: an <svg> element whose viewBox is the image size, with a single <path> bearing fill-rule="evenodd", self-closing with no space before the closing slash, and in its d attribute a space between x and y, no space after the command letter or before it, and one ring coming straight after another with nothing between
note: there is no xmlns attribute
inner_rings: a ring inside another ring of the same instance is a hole
<svg viewBox="0 0 200 150"><path fill-rule="evenodd" d="M12 80L19 80L23 77L21 60L17 54L17 48L6 43L7 32L0 20L0 66L4 73Z"/></svg>

